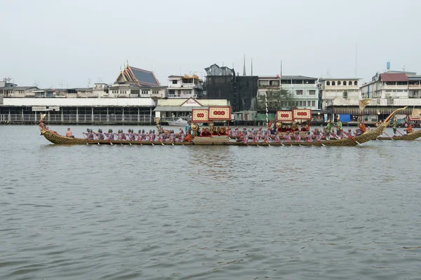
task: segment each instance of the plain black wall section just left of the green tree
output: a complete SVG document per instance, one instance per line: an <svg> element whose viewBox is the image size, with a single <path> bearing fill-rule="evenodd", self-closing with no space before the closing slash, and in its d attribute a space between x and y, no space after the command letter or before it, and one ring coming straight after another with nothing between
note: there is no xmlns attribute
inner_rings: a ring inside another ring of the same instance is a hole
<svg viewBox="0 0 421 280"><path fill-rule="evenodd" d="M258 76L237 76L236 77L236 109L238 111L249 111L252 100L258 94ZM233 108L234 109L234 108Z"/></svg>

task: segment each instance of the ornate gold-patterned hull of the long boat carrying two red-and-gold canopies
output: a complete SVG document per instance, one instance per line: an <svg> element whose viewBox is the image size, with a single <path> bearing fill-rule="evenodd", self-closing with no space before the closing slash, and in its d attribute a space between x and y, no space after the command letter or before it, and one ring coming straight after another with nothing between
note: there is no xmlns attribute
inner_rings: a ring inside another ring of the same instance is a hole
<svg viewBox="0 0 421 280"><path fill-rule="evenodd" d="M403 108L405 109L405 108ZM322 141L312 141L312 142L270 142L270 143L244 143L237 141L222 141L222 139L203 139L198 137L193 139L192 142L170 142L170 141L120 141L120 140L87 140L83 138L69 138L57 134L51 130L41 130L41 135L43 135L48 141L53 144L61 145L154 145L154 146L165 146L165 145L223 145L223 146L356 146L358 144L363 144L371 140L377 139L385 131L387 125L389 125L392 117L399 111L403 109L397 109L387 117L387 119L377 127L375 130L366 132L362 135L353 138L344 138L344 139L331 139L331 140L322 140Z"/></svg>

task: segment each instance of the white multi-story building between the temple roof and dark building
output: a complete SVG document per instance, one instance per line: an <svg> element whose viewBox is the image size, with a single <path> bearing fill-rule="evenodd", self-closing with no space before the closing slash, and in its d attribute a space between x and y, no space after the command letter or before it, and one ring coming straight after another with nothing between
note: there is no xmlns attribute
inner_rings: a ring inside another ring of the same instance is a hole
<svg viewBox="0 0 421 280"><path fill-rule="evenodd" d="M168 76L168 98L203 98L203 80L196 75Z"/></svg>

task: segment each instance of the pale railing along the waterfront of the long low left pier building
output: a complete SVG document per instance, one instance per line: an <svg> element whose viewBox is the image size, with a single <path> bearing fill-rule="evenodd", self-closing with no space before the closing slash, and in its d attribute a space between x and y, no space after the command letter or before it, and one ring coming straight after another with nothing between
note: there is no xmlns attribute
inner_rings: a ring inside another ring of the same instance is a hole
<svg viewBox="0 0 421 280"><path fill-rule="evenodd" d="M106 123L124 124L139 123L150 124L152 118L149 115L69 115L54 114L44 118L46 123L66 124L66 123ZM0 114L0 123L38 123L39 114Z"/></svg>

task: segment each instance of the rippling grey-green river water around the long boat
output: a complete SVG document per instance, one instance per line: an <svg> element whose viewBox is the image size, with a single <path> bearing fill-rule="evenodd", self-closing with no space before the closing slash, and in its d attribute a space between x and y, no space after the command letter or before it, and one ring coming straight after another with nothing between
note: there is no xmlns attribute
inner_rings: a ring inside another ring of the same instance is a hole
<svg viewBox="0 0 421 280"><path fill-rule="evenodd" d="M0 137L0 279L421 279L421 141L55 146L36 125Z"/></svg>

